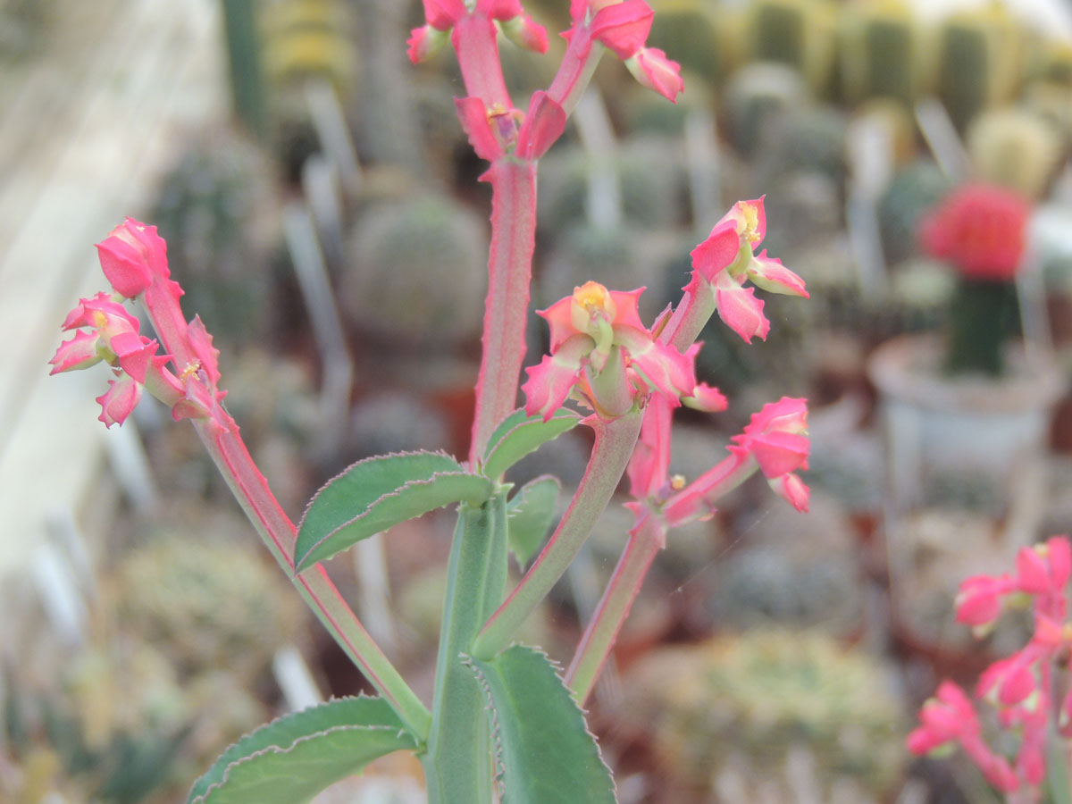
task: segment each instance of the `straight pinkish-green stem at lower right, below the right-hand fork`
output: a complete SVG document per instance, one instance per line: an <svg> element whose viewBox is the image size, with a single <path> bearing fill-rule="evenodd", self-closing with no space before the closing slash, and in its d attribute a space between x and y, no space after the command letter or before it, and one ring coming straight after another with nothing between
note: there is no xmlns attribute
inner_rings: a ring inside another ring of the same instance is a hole
<svg viewBox="0 0 1072 804"><path fill-rule="evenodd" d="M566 684L581 705L592 693L622 625L629 616L644 577L655 556L666 546L666 525L656 517L644 517L629 534L629 541L614 568L599 606L584 629L574 660L566 670Z"/></svg>

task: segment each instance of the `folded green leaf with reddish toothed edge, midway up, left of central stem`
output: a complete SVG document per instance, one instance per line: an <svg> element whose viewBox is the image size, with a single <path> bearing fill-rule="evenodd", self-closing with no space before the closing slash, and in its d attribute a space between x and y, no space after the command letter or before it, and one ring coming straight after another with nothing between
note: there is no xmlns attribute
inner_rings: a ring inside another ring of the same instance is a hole
<svg viewBox="0 0 1072 804"><path fill-rule="evenodd" d="M361 539L458 502L480 505L492 483L443 452L400 452L358 461L314 496L298 527L297 571Z"/></svg>

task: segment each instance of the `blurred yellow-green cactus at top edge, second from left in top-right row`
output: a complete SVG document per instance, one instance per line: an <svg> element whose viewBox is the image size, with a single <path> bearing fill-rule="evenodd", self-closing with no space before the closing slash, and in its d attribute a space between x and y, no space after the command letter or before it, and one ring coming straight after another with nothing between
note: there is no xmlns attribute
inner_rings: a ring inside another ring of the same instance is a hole
<svg viewBox="0 0 1072 804"><path fill-rule="evenodd" d="M836 5L829 0L756 0L748 6L750 61L794 68L813 92L829 87L836 40Z"/></svg>

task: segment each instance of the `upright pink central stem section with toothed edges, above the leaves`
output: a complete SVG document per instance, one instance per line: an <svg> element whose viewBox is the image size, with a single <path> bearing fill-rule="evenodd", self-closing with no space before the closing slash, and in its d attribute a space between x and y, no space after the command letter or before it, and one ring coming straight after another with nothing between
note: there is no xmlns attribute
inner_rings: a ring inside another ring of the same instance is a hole
<svg viewBox="0 0 1072 804"><path fill-rule="evenodd" d="M470 461L476 465L488 437L517 406L525 359L525 321L536 247L536 164L500 160L491 181L491 250L483 351L476 384Z"/></svg>

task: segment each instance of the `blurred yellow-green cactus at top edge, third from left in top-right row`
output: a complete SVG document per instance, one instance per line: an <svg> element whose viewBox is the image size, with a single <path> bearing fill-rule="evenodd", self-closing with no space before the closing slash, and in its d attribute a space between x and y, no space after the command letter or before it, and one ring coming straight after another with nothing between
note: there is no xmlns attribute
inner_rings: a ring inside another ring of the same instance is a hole
<svg viewBox="0 0 1072 804"><path fill-rule="evenodd" d="M903 0L847 9L839 42L840 87L848 103L870 98L914 103L925 84L925 45Z"/></svg>

